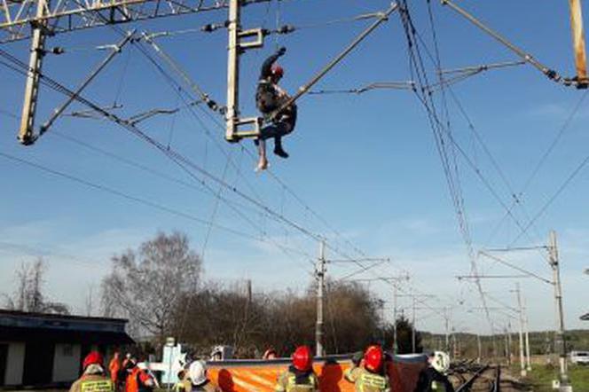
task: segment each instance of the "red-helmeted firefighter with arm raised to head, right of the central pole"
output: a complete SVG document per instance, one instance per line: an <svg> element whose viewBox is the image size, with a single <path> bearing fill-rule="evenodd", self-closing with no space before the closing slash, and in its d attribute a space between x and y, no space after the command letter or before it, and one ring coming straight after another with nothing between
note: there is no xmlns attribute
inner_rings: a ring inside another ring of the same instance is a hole
<svg viewBox="0 0 589 392"><path fill-rule="evenodd" d="M359 354L352 358L353 366L343 374L344 379L355 384L356 392L390 392L381 346L368 347L364 358Z"/></svg>

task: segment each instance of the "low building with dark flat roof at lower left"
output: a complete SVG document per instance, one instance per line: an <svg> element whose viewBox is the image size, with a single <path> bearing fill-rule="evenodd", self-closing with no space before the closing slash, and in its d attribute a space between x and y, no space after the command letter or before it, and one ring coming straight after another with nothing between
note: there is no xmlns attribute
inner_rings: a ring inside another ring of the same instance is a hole
<svg viewBox="0 0 589 392"><path fill-rule="evenodd" d="M68 384L98 349L108 361L133 340L127 320L0 310L0 387ZM106 364L107 365L107 364Z"/></svg>

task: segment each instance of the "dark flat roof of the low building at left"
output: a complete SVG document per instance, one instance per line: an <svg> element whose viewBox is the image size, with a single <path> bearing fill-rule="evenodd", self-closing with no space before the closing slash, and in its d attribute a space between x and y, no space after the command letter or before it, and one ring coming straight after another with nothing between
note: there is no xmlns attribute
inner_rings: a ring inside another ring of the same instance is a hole
<svg viewBox="0 0 589 392"><path fill-rule="evenodd" d="M54 341L85 344L130 344L123 318L29 313L0 310L0 336L4 341Z"/></svg>

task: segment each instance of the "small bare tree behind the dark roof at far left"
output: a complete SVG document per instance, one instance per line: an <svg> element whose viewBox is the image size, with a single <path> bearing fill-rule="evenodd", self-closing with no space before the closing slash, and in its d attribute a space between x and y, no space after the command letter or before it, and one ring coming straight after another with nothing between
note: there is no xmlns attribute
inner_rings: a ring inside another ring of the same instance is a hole
<svg viewBox="0 0 589 392"><path fill-rule="evenodd" d="M45 272L45 263L41 257L34 263L22 263L15 272L17 288L14 294L4 296L6 307L28 312L69 314L65 303L51 302L43 294Z"/></svg>

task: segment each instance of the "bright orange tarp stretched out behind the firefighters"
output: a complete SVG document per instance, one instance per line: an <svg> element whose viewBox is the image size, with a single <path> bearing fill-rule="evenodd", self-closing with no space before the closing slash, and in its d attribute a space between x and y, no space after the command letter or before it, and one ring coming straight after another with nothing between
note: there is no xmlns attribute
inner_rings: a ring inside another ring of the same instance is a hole
<svg viewBox="0 0 589 392"><path fill-rule="evenodd" d="M343 372L350 366L349 361L340 363L317 363L313 365L318 375L322 392L353 392L354 385L343 379ZM288 364L215 365L209 363L208 376L224 392L271 392L281 372ZM388 365L393 392L413 392L423 362L396 362Z"/></svg>

